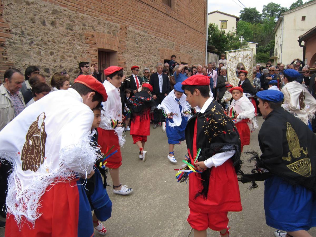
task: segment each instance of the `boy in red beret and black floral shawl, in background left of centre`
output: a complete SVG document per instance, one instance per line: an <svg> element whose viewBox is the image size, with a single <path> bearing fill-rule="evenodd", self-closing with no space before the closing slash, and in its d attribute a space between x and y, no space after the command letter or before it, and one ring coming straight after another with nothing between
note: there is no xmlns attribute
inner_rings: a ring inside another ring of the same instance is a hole
<svg viewBox="0 0 316 237"><path fill-rule="evenodd" d="M150 92L153 87L143 84L143 89L127 100L131 109L131 131L134 144L139 148L139 159L146 161L146 151L144 151L147 136L150 135L150 108L155 107L155 101L151 97Z"/></svg>

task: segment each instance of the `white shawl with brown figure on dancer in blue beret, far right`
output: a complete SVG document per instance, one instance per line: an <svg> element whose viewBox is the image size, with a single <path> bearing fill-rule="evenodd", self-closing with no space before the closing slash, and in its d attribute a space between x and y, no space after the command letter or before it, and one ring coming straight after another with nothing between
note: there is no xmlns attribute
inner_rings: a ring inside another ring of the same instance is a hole
<svg viewBox="0 0 316 237"><path fill-rule="evenodd" d="M292 113L295 117L308 124L308 120L315 117L316 100L307 88L299 82L289 82L281 90L284 94L282 107L285 111ZM301 103L300 103L301 98Z"/></svg>

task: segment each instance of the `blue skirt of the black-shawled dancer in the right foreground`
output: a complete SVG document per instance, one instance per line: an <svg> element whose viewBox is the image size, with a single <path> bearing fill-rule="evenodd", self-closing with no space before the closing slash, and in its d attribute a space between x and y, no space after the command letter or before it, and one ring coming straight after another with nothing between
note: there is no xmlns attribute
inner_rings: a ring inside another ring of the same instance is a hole
<svg viewBox="0 0 316 237"><path fill-rule="evenodd" d="M316 226L316 201L301 185L290 185L274 176L264 181L264 211L268 226L285 231Z"/></svg>

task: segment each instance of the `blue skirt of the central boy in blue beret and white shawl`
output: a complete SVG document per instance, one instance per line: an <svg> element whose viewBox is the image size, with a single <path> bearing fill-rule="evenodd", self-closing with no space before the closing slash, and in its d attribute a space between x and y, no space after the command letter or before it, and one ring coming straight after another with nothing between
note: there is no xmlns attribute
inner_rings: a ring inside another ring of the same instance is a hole
<svg viewBox="0 0 316 237"><path fill-rule="evenodd" d="M172 119L166 119L166 133L168 137L168 144L178 144L180 141L185 140L185 127L188 123L188 117L182 116L181 117L181 125L178 127L169 127L169 123L173 123Z"/></svg>

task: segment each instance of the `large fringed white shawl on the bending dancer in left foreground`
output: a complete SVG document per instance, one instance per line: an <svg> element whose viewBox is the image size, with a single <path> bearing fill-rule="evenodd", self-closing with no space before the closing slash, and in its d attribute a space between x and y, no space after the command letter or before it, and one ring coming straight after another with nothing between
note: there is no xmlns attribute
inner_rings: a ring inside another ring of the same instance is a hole
<svg viewBox="0 0 316 237"><path fill-rule="evenodd" d="M94 114L82 102L74 89L55 91L0 131L0 157L13 166L6 204L18 224L22 216L34 224L49 185L90 173L98 159L89 137Z"/></svg>

